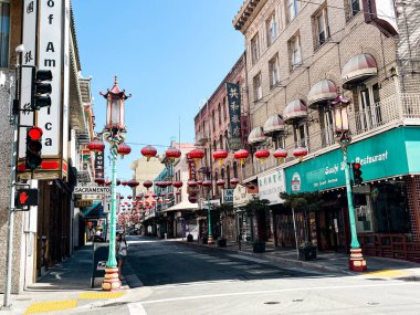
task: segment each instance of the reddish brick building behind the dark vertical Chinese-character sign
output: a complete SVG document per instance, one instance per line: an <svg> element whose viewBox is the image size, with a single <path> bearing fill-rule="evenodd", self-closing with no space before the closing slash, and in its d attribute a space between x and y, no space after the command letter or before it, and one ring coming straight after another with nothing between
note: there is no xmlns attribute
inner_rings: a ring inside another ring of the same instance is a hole
<svg viewBox="0 0 420 315"><path fill-rule="evenodd" d="M233 189L230 180L239 178L242 183L243 179L251 176L250 160L245 160L243 167L240 161L235 160L233 153L239 148L230 146L232 139L231 117L228 104L227 83L238 84L241 95L241 117L240 117L240 143L241 147L248 149L249 133L249 102L246 93L246 55L243 53L223 81L214 90L207 103L200 108L195 117L196 143L204 151L204 158L200 162L198 180L211 179L213 181L212 199L220 199L223 189ZM221 165L213 160L213 153L217 149L228 150L230 154ZM224 180L224 186L217 186L218 180ZM224 225L234 228L234 219L229 218L229 223ZM207 219L201 220L202 229L207 225ZM220 227L214 227L216 230ZM229 230L228 228L224 229ZM213 232L214 233L214 232ZM218 232L217 232L218 233ZM228 231L233 235L232 231Z"/></svg>

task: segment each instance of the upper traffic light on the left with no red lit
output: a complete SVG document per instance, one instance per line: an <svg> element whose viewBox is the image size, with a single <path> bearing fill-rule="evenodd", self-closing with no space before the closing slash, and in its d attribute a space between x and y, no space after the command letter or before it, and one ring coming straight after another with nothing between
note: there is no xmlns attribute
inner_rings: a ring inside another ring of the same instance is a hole
<svg viewBox="0 0 420 315"><path fill-rule="evenodd" d="M52 72L51 70L38 70L34 75L34 91L32 109L40 109L45 106L51 106L50 94L52 92L51 83Z"/></svg>

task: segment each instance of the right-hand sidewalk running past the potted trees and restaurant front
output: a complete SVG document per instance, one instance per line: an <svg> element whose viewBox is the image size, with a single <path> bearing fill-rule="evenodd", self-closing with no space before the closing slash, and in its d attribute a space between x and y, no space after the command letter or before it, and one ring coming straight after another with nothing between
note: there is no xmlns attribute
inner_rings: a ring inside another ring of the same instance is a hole
<svg viewBox="0 0 420 315"><path fill-rule="evenodd" d="M195 242L186 242L185 240L182 241L181 239L177 239L176 241L191 246L201 246L209 250L228 251L244 255L251 255L261 260L275 262L281 265L306 267L347 275L360 274L359 272L351 272L348 270L349 255L339 252L318 251L316 260L300 261L295 249L275 248L272 243L265 244L264 253L253 253L252 244L243 242L241 243L241 250L239 250L239 244L237 242L229 241L227 242L225 248L218 248L217 243L214 245L203 245L201 243L198 243L197 240ZM417 276L420 280L419 263L377 256L365 256L365 259L367 261L368 271L363 274L400 277Z"/></svg>

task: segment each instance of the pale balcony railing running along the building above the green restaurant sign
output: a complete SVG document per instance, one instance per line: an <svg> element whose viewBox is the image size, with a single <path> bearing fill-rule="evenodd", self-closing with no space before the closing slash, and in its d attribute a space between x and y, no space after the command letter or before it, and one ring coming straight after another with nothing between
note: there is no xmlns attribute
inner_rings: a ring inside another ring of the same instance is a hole
<svg viewBox="0 0 420 315"><path fill-rule="evenodd" d="M353 140L366 138L399 125L420 125L420 94L401 94L400 99L392 95L365 108L355 108L355 105L351 104L349 125ZM293 133L290 133L287 140L290 140L290 137L293 138ZM286 164L295 160L293 149L296 146L307 143L309 154L316 151L322 154L333 149L332 146L336 145L334 126L311 133L308 138L300 140L298 144L287 140L288 145L285 148L288 153L285 159ZM270 156L263 165L258 159L254 159L250 176L258 175L279 165L279 161L273 156Z"/></svg>

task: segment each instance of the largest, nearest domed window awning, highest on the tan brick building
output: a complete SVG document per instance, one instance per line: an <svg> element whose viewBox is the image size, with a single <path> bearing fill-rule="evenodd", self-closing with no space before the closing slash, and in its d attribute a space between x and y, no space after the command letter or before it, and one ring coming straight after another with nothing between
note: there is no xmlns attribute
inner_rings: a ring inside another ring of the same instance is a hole
<svg viewBox="0 0 420 315"><path fill-rule="evenodd" d="M355 84L377 75L378 67L370 54L361 53L351 57L343 67L343 83Z"/></svg>

